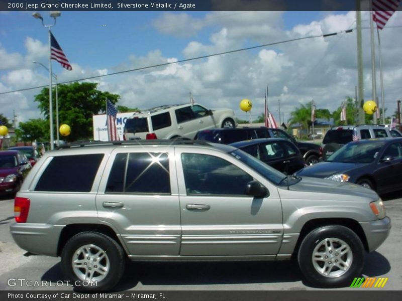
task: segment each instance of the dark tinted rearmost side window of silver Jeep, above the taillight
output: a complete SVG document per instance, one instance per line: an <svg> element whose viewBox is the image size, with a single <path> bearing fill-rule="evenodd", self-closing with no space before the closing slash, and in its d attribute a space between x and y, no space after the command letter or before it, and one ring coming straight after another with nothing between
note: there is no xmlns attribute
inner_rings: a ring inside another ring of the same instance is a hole
<svg viewBox="0 0 402 301"><path fill-rule="evenodd" d="M35 191L89 192L103 158L104 154L54 157Z"/></svg>

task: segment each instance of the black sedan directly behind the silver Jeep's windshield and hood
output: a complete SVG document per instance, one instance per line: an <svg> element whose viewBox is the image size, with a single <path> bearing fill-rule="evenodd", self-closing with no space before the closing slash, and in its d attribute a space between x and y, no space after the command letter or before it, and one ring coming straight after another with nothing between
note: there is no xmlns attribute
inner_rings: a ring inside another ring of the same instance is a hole
<svg viewBox="0 0 402 301"><path fill-rule="evenodd" d="M243 150L286 175L291 175L306 165L296 145L285 139L253 139L229 145Z"/></svg>

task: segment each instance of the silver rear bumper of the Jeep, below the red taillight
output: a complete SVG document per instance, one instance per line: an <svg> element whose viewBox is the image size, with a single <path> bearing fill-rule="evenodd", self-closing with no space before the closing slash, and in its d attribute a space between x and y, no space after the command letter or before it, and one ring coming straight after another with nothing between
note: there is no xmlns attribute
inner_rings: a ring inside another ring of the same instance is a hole
<svg viewBox="0 0 402 301"><path fill-rule="evenodd" d="M34 254L56 257L60 232L63 227L48 224L13 223L10 226L10 232L20 248Z"/></svg>

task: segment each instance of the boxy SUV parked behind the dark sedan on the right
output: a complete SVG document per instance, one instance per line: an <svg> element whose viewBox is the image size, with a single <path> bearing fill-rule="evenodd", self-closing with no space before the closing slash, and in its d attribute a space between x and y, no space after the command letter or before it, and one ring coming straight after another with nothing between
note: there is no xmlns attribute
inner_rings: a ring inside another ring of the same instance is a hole
<svg viewBox="0 0 402 301"><path fill-rule="evenodd" d="M391 137L384 125L345 125L334 126L325 133L323 139L323 158L326 160L342 145L354 140Z"/></svg>

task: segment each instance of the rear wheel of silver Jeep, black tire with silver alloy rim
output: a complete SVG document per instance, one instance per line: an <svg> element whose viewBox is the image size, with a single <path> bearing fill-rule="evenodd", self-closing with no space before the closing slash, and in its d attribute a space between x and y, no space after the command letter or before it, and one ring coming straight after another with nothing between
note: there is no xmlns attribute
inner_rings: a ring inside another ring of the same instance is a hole
<svg viewBox="0 0 402 301"><path fill-rule="evenodd" d="M98 252L103 258L99 259L99 256L96 256ZM87 260L83 253L88 255ZM74 270L72 266L74 258L82 260L82 268L76 266ZM106 270L104 275L95 271L95 269L102 270L100 268L102 266L108 267L103 270ZM82 232L71 237L65 244L61 253L61 268L64 276L78 290L110 290L123 275L125 254L122 247L109 236L97 232ZM89 281L83 278L88 272L92 272ZM91 281L96 283L88 283Z"/></svg>

